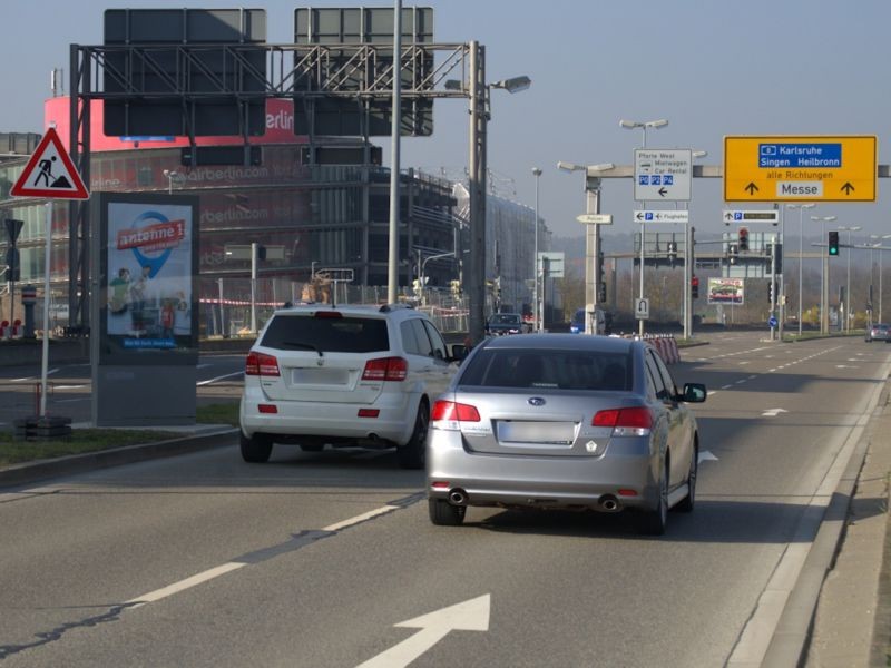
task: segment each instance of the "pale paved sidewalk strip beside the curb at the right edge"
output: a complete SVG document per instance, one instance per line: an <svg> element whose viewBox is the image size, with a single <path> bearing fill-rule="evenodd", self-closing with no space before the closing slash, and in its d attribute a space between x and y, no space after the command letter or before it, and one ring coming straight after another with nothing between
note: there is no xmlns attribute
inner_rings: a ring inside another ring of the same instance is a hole
<svg viewBox="0 0 891 668"><path fill-rule="evenodd" d="M890 666L891 657L891 396L885 385L863 432L866 453L856 478L843 540L826 573L807 652L807 668Z"/></svg>

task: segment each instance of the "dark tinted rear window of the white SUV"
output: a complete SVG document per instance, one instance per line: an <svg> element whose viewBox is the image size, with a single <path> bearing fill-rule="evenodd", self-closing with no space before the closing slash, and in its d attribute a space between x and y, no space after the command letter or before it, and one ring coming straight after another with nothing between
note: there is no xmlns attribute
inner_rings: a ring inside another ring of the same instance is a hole
<svg viewBox="0 0 891 668"><path fill-rule="evenodd" d="M376 353L390 350L386 321L379 317L276 315L261 345L322 353Z"/></svg>

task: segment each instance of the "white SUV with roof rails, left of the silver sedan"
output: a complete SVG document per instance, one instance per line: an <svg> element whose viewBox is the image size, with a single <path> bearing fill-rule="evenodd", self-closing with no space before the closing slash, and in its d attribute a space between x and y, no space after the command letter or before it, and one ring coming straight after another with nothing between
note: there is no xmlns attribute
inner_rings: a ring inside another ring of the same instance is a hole
<svg viewBox="0 0 891 668"><path fill-rule="evenodd" d="M242 456L273 443L396 446L424 465L430 406L457 369L425 314L403 305L312 304L276 311L247 355Z"/></svg>

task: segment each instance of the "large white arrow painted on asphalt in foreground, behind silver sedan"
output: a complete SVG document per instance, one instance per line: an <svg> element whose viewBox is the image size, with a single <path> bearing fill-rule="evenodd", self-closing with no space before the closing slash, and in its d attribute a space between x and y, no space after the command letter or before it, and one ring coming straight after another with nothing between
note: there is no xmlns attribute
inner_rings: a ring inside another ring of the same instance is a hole
<svg viewBox="0 0 891 668"><path fill-rule="evenodd" d="M421 630L356 668L403 668L448 636L449 631L488 631L490 599L491 595L486 593L393 625Z"/></svg>

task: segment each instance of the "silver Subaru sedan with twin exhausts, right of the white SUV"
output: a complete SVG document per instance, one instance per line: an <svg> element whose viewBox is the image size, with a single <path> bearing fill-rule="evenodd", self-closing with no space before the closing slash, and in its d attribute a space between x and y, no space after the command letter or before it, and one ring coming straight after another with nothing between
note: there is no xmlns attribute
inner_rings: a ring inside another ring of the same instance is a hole
<svg viewBox="0 0 891 668"><path fill-rule="evenodd" d="M668 509L692 511L699 435L646 342L529 334L478 345L437 400L427 451L433 524L469 507L637 512L660 534Z"/></svg>

